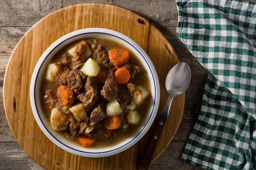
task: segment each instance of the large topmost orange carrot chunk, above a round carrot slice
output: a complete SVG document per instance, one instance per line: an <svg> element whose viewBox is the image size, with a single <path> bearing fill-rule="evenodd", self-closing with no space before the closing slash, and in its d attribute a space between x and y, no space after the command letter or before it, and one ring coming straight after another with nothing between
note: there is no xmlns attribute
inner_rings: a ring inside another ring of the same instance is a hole
<svg viewBox="0 0 256 170"><path fill-rule="evenodd" d="M110 62L114 66L123 66L129 61L129 52L122 48L113 48L108 51Z"/></svg>

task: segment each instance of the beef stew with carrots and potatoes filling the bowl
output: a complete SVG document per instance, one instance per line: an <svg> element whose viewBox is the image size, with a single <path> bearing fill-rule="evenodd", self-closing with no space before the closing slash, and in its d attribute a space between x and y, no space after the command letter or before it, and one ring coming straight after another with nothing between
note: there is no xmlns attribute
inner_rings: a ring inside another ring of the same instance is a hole
<svg viewBox="0 0 256 170"><path fill-rule="evenodd" d="M113 49L114 55L109 52ZM128 60L126 56L114 66L126 52ZM126 74L117 74L119 68ZM128 80L120 83L117 76ZM124 140L147 114L148 74L132 51L115 41L86 38L65 46L42 78L46 83L40 88L41 104L52 128L82 146L103 147Z"/></svg>

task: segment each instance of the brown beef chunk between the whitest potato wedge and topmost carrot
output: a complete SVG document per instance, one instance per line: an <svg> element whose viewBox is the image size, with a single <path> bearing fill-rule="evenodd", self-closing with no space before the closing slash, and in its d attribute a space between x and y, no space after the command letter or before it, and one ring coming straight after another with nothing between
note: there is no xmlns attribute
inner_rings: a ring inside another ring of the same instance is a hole
<svg viewBox="0 0 256 170"><path fill-rule="evenodd" d="M92 60L97 62L101 69L110 69L113 67L108 56L108 51L106 51L103 45L97 46L97 49L93 51Z"/></svg>

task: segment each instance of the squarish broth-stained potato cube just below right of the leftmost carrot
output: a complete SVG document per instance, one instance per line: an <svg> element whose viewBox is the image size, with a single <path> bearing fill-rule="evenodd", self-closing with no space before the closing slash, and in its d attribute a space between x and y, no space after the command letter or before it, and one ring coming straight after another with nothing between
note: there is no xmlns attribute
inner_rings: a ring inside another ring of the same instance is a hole
<svg viewBox="0 0 256 170"><path fill-rule="evenodd" d="M82 102L75 104L69 110L77 121L83 121L88 118Z"/></svg>

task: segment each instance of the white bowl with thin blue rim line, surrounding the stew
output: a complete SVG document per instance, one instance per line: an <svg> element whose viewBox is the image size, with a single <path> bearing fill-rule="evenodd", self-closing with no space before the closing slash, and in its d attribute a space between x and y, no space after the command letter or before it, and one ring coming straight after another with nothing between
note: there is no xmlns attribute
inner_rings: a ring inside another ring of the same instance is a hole
<svg viewBox="0 0 256 170"><path fill-rule="evenodd" d="M47 66L47 63L49 63L50 59L54 56L54 54L70 42L87 37L112 38L115 41L123 44L128 49L130 49L130 51L133 51L135 55L139 58L141 63L144 64L144 67L148 71L148 77L150 79L150 88L152 93L150 99L151 104L148 114L146 115L146 119L144 119L144 122L142 123L141 127L138 128L137 131L135 131L135 133L132 134L128 139L121 141L119 144L116 144L115 146L109 146L106 148L84 148L78 144L75 144L75 142L70 142L69 139L63 137L63 135L61 135L59 132L54 131L51 128L49 121L43 114L38 94L41 84L40 77L42 77L43 72ZM31 77L30 84L31 108L40 129L58 147L62 148L63 150L66 150L67 152L83 157L107 157L118 154L136 144L146 134L146 132L152 125L155 116L157 115L157 109L159 106L159 96L160 88L157 72L146 52L135 41L128 38L126 35L123 35L117 31L102 28L80 29L68 33L63 37L59 38L58 40L56 40L46 49L46 51L38 60L38 63L36 64L33 75Z"/></svg>

